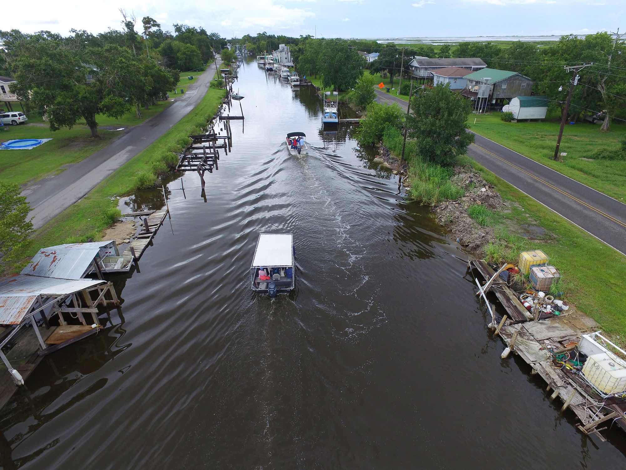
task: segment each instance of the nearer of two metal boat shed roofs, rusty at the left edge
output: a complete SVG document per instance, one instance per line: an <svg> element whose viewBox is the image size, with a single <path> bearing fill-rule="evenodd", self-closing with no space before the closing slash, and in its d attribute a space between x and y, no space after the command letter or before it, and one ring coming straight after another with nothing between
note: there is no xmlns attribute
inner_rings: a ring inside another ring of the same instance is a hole
<svg viewBox="0 0 626 470"><path fill-rule="evenodd" d="M0 325L18 325L38 295L58 297L104 283L100 279L56 279L14 274L0 279Z"/></svg>

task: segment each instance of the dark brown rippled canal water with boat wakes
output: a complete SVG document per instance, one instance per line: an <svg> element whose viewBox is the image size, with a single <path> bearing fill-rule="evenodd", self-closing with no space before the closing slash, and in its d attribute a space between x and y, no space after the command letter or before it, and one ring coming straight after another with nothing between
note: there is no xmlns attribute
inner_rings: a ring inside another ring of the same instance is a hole
<svg viewBox="0 0 626 470"><path fill-rule="evenodd" d="M583 437L500 360L466 254L368 168L354 130L322 133L308 88L254 63L239 76L245 128L207 201L197 174L184 194L170 182L172 225L116 280L121 317L0 412L3 468L624 468L626 436ZM292 130L316 152L290 157ZM250 291L261 231L294 233L290 296Z"/></svg>

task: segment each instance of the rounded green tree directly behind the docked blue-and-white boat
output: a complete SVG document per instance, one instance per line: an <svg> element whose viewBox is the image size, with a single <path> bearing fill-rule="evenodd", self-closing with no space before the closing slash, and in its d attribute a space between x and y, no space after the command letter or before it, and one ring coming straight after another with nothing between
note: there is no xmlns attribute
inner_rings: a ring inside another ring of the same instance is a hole
<svg viewBox="0 0 626 470"><path fill-rule="evenodd" d="M363 73L363 60L356 50L349 48L346 41L332 39L324 41L320 58L322 85L334 90L349 90Z"/></svg>

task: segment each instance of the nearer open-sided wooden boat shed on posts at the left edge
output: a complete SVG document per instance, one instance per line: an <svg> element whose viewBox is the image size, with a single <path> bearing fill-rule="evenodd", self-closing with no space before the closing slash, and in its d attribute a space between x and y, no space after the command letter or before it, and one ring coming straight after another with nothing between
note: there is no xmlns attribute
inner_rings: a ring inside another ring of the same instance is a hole
<svg viewBox="0 0 626 470"><path fill-rule="evenodd" d="M35 262L29 269L44 273L41 263L47 261L46 274L64 273L72 278L22 273L0 279L0 377L12 379L0 379L0 407L24 384L44 355L98 332L98 306L106 310L120 305L113 284L76 278L93 264L95 254L90 259L66 256L63 263L54 256L41 254L39 265Z"/></svg>

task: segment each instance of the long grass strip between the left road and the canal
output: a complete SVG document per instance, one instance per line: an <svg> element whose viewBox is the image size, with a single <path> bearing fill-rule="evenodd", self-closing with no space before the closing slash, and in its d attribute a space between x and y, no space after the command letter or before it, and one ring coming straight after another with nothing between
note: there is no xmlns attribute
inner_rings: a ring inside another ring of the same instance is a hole
<svg viewBox="0 0 626 470"><path fill-rule="evenodd" d="M156 179L155 167L167 168L165 162L169 166L175 165L178 159L172 157L172 155L175 157L173 152L188 145L190 142L188 136L198 133L205 127L207 119L212 117L220 106L223 96L224 90L214 88L208 90L202 101L168 132L113 172L83 199L41 227L24 248L21 257L33 256L45 246L88 238L101 239L101 232L116 218L115 196L128 194L150 181L153 183ZM20 266L14 266L14 269L19 268Z"/></svg>

